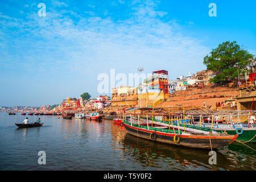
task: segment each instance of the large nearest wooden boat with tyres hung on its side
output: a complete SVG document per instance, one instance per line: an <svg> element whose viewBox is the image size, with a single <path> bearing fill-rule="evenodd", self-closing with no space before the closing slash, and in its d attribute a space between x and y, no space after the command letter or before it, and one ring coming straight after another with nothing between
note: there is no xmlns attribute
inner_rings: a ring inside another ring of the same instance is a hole
<svg viewBox="0 0 256 182"><path fill-rule="evenodd" d="M163 125L156 125L153 122L154 126L152 126L148 125L148 123L137 123L134 119L130 118L130 122L125 119L123 123L127 133L136 137L192 148L221 148L234 142L238 137L238 134L212 134L209 131L209 134L206 134L207 131L201 130L198 130L197 133L197 129L191 131L172 130L172 127L168 129L164 122Z"/></svg>

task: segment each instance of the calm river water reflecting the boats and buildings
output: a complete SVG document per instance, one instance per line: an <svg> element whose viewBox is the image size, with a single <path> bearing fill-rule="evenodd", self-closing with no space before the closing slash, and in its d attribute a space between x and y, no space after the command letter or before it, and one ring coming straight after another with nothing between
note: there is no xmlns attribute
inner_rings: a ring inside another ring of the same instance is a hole
<svg viewBox="0 0 256 182"><path fill-rule="evenodd" d="M28 117L43 127L18 129ZM256 144L247 143L256 148ZM46 165L38 152L46 152ZM151 142L126 133L113 121L62 119L50 115L0 113L0 170L255 170L256 152L232 144L217 152L209 165L209 150Z"/></svg>

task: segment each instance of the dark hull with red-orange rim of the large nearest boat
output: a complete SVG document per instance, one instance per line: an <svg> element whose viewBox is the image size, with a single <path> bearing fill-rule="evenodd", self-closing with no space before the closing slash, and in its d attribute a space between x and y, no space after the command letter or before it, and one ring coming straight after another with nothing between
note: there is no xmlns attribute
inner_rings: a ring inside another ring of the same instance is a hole
<svg viewBox="0 0 256 182"><path fill-rule="evenodd" d="M127 130L127 133L134 135L136 137L192 148L210 149L210 141L212 143L212 148L222 148L232 143L237 138L237 135L211 136L210 139L208 135L179 135L179 142L175 142L175 134L145 130L138 127L127 125L126 123L124 123L124 125L125 129ZM155 133L155 139L151 138L152 133Z"/></svg>

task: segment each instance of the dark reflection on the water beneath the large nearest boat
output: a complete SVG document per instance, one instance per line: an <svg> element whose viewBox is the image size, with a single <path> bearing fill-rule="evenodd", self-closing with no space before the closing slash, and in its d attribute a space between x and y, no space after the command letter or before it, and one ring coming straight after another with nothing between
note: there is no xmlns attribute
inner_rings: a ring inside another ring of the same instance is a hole
<svg viewBox="0 0 256 182"><path fill-rule="evenodd" d="M123 152L124 156L132 156L138 163L156 168L167 165L177 170L224 170L233 164L219 151L216 151L217 164L210 165L210 150L153 142L130 134L123 140Z"/></svg>

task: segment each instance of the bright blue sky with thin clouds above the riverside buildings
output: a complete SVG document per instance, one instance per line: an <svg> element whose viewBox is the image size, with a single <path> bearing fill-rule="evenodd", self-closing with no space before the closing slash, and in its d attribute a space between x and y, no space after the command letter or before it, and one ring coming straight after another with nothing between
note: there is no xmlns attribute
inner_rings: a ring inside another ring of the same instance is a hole
<svg viewBox="0 0 256 182"><path fill-rule="evenodd" d="M46 17L38 4L46 4ZM217 17L210 17L209 3ZM256 1L1 1L0 106L53 105L89 92L100 73L166 69L175 79L236 40L256 55ZM110 94L109 94L110 95Z"/></svg>

